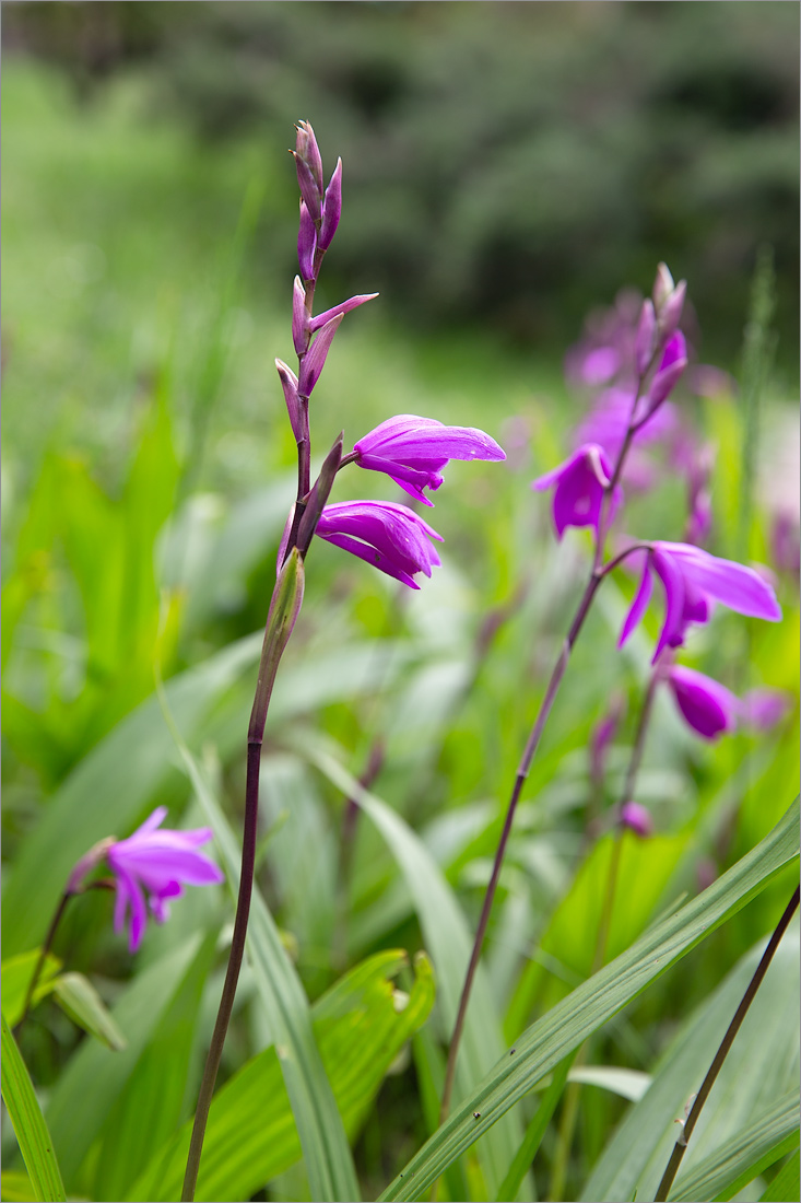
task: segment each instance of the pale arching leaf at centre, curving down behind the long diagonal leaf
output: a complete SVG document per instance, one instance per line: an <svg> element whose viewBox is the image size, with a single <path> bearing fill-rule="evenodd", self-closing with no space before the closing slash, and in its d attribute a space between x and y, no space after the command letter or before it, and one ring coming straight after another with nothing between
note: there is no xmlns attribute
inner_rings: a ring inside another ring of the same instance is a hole
<svg viewBox="0 0 801 1203"><path fill-rule="evenodd" d="M375 794L368 793L333 755L322 748L320 741L307 740L296 751L316 765L345 796L354 798L358 802L396 858L414 899L426 947L434 961L438 998L441 1002L443 1019L450 1036L456 1020L473 937L441 869L422 840L415 835L400 816ZM492 1001L486 973L480 966L473 983L470 1006L464 1023L457 1062L455 1097L458 1098L459 1095L471 1091L474 1084L487 1072L493 1059L500 1056L503 1048L499 1017ZM510 1116L500 1127L489 1133L488 1139L481 1145L479 1151L486 1186L493 1196L522 1139L522 1125L516 1116Z"/></svg>

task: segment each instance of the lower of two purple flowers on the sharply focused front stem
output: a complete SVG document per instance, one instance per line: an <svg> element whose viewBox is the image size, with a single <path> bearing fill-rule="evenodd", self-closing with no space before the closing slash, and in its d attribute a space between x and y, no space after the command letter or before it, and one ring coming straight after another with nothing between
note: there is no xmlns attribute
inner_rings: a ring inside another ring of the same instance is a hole
<svg viewBox="0 0 801 1203"><path fill-rule="evenodd" d="M337 502L326 505L316 533L337 547L352 552L411 589L420 586L415 573L431 576L440 558L428 543L439 539L414 510L394 502Z"/></svg>

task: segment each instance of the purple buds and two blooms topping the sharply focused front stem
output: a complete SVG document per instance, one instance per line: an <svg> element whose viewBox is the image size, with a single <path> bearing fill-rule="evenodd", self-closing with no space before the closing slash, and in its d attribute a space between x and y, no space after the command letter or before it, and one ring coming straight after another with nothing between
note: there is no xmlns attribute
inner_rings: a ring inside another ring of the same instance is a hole
<svg viewBox="0 0 801 1203"><path fill-rule="evenodd" d="M318 384L334 334L351 309L372 301L376 292L350 297L331 309L313 313L320 266L342 217L342 159L324 186L322 158L308 122L297 126L295 150L301 190L298 266L292 290L292 344L298 357L293 372L283 360L275 367L284 391L292 433L298 448L298 493L281 539L278 570L293 547L304 557L315 534L350 551L380 571L419 588L416 573L431 576L439 556L429 540L440 535L414 510L391 502L356 500L328 505L340 468L349 463L388 475L402 490L432 505L423 490L443 482L449 460L505 460L494 439L465 426L444 426L431 417L402 414L382 422L343 456L343 437L334 443L318 480L310 480L309 398Z"/></svg>

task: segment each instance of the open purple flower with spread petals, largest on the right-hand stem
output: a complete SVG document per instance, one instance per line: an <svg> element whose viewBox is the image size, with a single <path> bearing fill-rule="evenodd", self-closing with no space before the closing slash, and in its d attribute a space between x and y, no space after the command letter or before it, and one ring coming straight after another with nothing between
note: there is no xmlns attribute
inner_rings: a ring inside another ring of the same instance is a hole
<svg viewBox="0 0 801 1203"><path fill-rule="evenodd" d="M665 647L678 647L690 622L710 621L716 602L752 618L778 622L782 610L773 588L753 568L732 559L718 559L686 543L653 543L647 551L640 586L625 616L622 647L648 608L653 575L665 591L665 622L652 664Z"/></svg>

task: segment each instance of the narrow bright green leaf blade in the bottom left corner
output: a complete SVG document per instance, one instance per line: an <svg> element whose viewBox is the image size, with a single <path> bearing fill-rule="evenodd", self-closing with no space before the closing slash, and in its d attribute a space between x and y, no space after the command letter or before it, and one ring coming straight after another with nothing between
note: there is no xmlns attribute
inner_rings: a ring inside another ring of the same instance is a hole
<svg viewBox="0 0 801 1203"><path fill-rule="evenodd" d="M2 1097L37 1199L66 1199L44 1116L17 1042L2 1017Z"/></svg>

